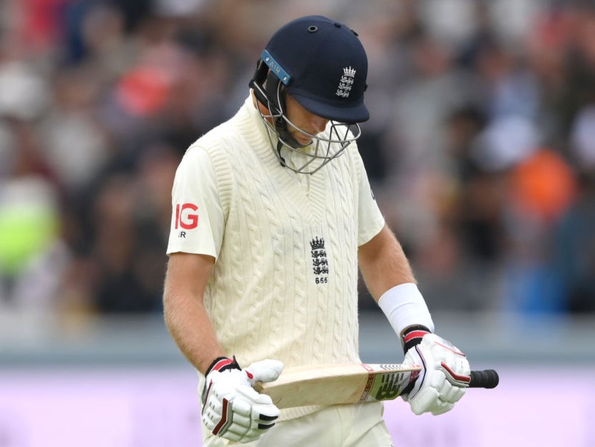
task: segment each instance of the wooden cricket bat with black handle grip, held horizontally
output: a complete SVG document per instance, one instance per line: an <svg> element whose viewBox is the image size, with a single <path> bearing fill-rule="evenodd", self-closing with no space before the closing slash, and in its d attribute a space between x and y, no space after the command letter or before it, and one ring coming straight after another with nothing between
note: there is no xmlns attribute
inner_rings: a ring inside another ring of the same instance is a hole
<svg viewBox="0 0 595 447"><path fill-rule="evenodd" d="M340 363L287 368L276 381L256 383L278 408L336 405L395 399L419 376L422 367L401 363ZM494 388L494 370L472 371L469 387Z"/></svg>

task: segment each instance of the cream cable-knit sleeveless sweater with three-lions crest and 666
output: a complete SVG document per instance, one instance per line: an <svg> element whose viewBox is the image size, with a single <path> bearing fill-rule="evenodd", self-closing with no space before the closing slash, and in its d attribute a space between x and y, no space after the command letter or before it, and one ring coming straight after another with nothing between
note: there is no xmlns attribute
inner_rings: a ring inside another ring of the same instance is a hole
<svg viewBox="0 0 595 447"><path fill-rule="evenodd" d="M250 99L196 142L215 170L226 226L205 306L242 366L358 362L357 147L313 176L280 166ZM315 408L284 411L283 418Z"/></svg>

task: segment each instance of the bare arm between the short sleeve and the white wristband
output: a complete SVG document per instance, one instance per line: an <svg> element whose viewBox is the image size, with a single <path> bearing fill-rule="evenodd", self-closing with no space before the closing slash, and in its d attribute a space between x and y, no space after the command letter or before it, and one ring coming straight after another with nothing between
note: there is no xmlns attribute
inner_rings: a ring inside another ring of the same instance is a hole
<svg viewBox="0 0 595 447"><path fill-rule="evenodd" d="M366 286L376 301L394 286L415 283L401 244L387 226L360 247L358 260Z"/></svg>

